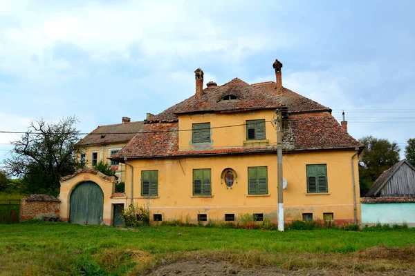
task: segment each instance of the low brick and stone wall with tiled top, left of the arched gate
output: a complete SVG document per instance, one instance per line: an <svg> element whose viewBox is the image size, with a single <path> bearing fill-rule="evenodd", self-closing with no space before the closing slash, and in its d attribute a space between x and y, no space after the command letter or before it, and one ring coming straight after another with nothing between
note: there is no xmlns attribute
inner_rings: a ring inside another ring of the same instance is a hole
<svg viewBox="0 0 415 276"><path fill-rule="evenodd" d="M20 221L59 217L60 200L52 195L30 195L20 201Z"/></svg>

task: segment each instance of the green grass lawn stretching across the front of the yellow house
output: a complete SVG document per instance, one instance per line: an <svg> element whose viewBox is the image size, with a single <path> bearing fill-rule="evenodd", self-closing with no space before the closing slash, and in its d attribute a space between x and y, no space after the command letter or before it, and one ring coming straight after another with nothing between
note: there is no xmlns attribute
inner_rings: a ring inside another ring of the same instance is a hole
<svg viewBox="0 0 415 276"><path fill-rule="evenodd" d="M279 233L172 226L120 230L109 226L23 223L0 225L0 275L124 275L141 273L162 258L194 256L288 269L294 265L349 268L353 259L355 269L360 262L356 254L374 246L381 246L380 251L400 247L413 255L415 230ZM360 269L402 269L414 265L410 259L409 264L396 263L399 259L369 261L365 259Z"/></svg>

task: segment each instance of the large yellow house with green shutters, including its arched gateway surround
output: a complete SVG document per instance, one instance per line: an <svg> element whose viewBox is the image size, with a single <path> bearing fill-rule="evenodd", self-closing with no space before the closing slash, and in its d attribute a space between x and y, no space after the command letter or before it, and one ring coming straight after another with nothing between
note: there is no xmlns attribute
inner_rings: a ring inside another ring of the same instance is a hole
<svg viewBox="0 0 415 276"><path fill-rule="evenodd" d="M105 222L113 219L105 215L109 210L116 217L120 204L131 203L148 206L154 221L234 221L243 214L277 221L276 110L283 115L286 221L360 221L357 155L363 146L330 108L282 86L282 63L273 67L276 81L248 84L236 78L221 86L210 81L205 89L197 69L195 95L147 117L112 155L112 161L127 164L125 194L104 198L104 223L112 223ZM93 176L73 179L63 201ZM63 219L71 216L69 209Z"/></svg>

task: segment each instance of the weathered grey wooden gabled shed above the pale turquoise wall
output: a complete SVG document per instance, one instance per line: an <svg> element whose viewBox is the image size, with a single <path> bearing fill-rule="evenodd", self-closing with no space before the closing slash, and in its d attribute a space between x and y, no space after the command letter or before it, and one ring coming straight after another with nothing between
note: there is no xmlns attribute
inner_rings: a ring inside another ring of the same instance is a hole
<svg viewBox="0 0 415 276"><path fill-rule="evenodd" d="M415 197L415 168L399 161L382 172L365 197Z"/></svg>

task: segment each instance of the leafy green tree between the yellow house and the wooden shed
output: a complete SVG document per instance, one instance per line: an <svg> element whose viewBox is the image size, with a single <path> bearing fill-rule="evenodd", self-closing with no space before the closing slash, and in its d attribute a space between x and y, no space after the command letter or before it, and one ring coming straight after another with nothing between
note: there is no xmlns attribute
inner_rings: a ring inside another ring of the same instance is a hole
<svg viewBox="0 0 415 276"><path fill-rule="evenodd" d="M399 161L400 148L396 142L373 136L359 141L366 146L359 161L360 196L364 196L380 174Z"/></svg>

